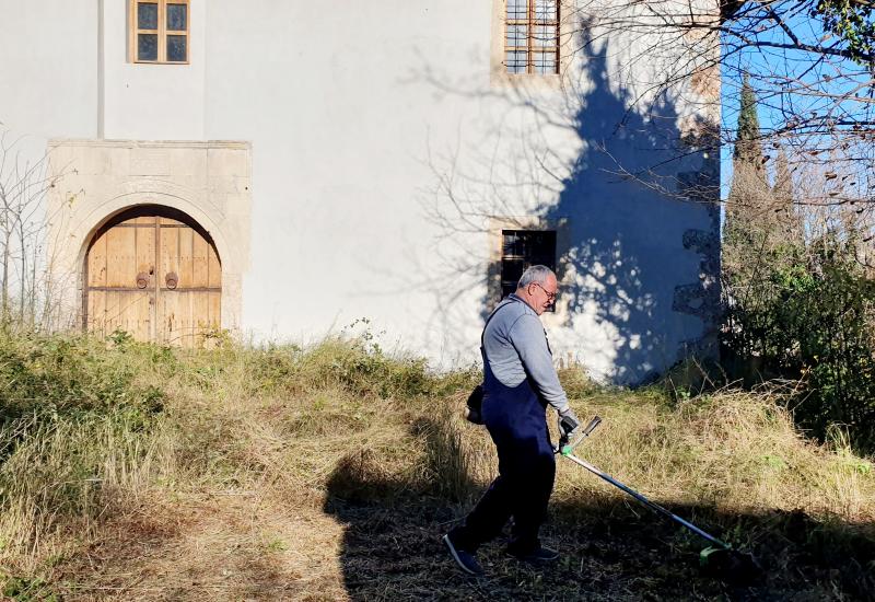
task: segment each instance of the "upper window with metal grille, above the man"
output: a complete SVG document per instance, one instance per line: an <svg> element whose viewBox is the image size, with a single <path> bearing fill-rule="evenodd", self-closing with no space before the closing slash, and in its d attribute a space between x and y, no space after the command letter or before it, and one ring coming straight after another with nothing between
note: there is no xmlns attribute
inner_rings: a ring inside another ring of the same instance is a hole
<svg viewBox="0 0 875 602"><path fill-rule="evenodd" d="M559 0L508 0L508 73L559 73Z"/></svg>

